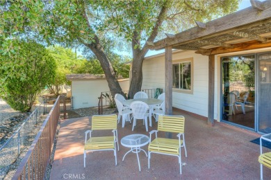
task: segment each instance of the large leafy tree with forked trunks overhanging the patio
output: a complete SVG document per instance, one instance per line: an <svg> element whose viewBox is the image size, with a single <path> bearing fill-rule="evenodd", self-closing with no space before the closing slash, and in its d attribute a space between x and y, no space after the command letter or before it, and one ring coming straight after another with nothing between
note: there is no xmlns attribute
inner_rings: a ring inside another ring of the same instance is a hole
<svg viewBox="0 0 271 180"><path fill-rule="evenodd" d="M225 15L236 10L237 5L238 0L5 1L0 4L0 18L6 20L0 23L0 31L8 37L23 30L38 31L51 43L89 48L101 64L110 91L120 91L121 87L104 47L112 33L117 33L132 44L130 89L136 92L142 85L146 42L154 42L163 30L176 32L190 27L194 20Z"/></svg>

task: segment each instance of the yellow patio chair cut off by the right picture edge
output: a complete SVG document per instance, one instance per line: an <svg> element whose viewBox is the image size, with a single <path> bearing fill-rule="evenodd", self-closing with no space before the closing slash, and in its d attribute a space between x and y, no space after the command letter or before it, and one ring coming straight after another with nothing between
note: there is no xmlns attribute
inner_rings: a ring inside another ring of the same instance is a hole
<svg viewBox="0 0 271 180"><path fill-rule="evenodd" d="M271 152L263 153L263 140L271 142L271 133L264 134L260 138L261 155L258 156L258 162L261 164L261 179L263 179L263 165L271 169Z"/></svg>

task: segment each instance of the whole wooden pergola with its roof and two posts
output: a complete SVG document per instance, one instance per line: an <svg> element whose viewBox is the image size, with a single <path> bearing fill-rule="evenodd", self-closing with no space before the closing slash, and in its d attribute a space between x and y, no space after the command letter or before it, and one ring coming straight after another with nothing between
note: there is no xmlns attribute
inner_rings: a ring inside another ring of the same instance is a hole
<svg viewBox="0 0 271 180"><path fill-rule="evenodd" d="M149 48L165 48L165 112L172 114L172 49L208 55L208 124L214 125L215 55L271 47L271 1L251 1L252 7L202 23Z"/></svg>

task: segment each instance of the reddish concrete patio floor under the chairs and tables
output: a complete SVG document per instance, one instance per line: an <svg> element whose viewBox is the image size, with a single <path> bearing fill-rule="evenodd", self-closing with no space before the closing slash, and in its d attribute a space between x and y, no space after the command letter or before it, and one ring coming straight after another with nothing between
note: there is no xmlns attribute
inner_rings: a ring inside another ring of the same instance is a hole
<svg viewBox="0 0 271 180"><path fill-rule="evenodd" d="M260 147L249 142L260 137L259 134L225 123L215 123L214 127L210 127L206 120L176 111L174 114L186 117L188 157L185 157L182 149L183 174L179 174L176 156L151 154L151 168L148 169L144 152L139 154L139 172L136 154L127 154L122 161L130 149L121 144L117 152L117 166L113 151L104 151L88 152L86 168L83 168L85 131L91 125L91 117L84 117L62 120L51 179L260 179ZM149 128L149 132L157 128L154 119L152 122L153 127ZM149 136L140 120L133 132L128 122L124 128L121 123L117 128L119 141L129 134ZM147 151L147 145L142 148ZM263 150L268 151L267 148ZM268 168L263 168L263 174L264 179L271 179L271 170Z"/></svg>

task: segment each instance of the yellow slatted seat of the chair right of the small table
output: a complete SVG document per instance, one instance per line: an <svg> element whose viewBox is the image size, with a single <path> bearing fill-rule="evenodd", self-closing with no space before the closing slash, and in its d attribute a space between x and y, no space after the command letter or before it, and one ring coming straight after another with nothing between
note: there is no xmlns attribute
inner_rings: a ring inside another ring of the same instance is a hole
<svg viewBox="0 0 271 180"><path fill-rule="evenodd" d="M183 140L181 140L182 143ZM149 151L179 155L179 139L155 138L149 143Z"/></svg>

